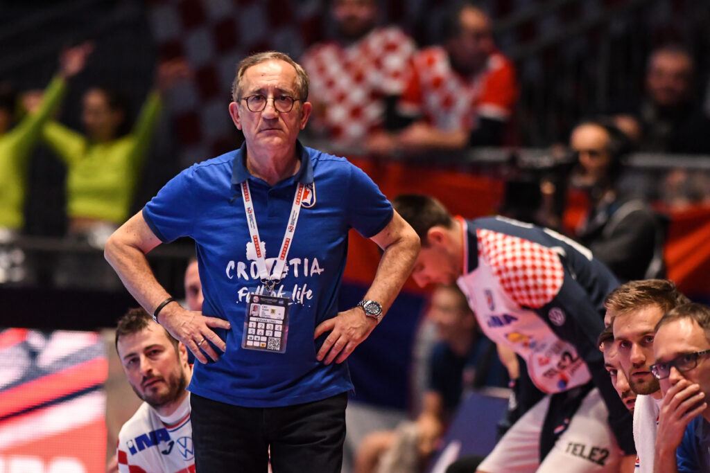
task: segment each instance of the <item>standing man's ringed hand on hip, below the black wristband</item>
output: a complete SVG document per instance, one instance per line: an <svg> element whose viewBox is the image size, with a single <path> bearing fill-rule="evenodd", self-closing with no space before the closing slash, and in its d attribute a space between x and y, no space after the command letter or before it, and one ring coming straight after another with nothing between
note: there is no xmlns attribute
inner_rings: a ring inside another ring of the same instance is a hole
<svg viewBox="0 0 710 473"><path fill-rule="evenodd" d="M200 363L207 363L207 354L213 361L217 361L219 355L214 351L210 343L219 350L226 350L226 343L217 336L210 328L224 328L229 330L231 325L222 318L203 316L202 312L187 311L184 308L173 304L175 308L160 311L158 322L168 330L170 335L180 340L188 350L195 355ZM203 353L204 352L204 353Z"/></svg>

